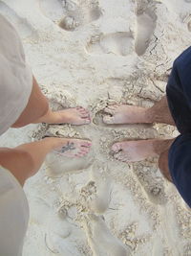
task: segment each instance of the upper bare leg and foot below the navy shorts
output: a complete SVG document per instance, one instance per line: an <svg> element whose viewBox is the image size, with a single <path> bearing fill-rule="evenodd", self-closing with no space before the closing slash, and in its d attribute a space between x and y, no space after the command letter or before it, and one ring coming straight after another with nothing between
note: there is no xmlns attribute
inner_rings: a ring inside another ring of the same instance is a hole
<svg viewBox="0 0 191 256"><path fill-rule="evenodd" d="M171 116L166 96L150 108L133 105L108 105L103 117L106 124L164 123L175 125Z"/></svg>

